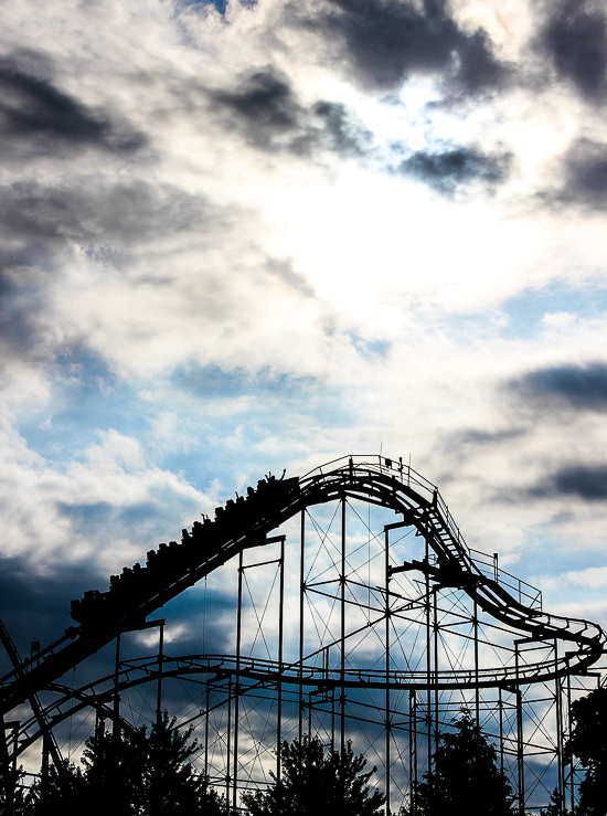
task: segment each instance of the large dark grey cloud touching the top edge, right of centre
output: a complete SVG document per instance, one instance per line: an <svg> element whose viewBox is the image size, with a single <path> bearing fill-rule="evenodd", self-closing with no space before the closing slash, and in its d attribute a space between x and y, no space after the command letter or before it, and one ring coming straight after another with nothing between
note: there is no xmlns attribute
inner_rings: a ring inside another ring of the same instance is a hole
<svg viewBox="0 0 607 816"><path fill-rule="evenodd" d="M441 75L465 93L505 81L484 31L460 29L445 0L327 0L312 18L302 19L295 6L291 17L341 39L359 78L371 87L396 88L414 74Z"/></svg>

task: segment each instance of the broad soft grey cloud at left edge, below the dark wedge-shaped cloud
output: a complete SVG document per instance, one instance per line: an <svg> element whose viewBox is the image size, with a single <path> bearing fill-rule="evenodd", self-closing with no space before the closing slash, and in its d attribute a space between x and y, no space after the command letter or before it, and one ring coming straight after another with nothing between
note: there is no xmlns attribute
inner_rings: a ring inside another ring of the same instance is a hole
<svg viewBox="0 0 607 816"><path fill-rule="evenodd" d="M146 276L156 287L167 287L174 277L172 267L148 261L137 269L141 253L148 259L162 256L168 251L163 242L184 235L187 243L192 235L201 242L212 224L217 234L224 220L202 195L142 179L110 181L103 174L75 172L61 184L15 181L0 190L0 201L4 364L13 359L44 363L74 343L86 346L88 329L78 327L77 311L65 309L66 290L57 298L71 272L78 269L76 289L88 280L88 295L116 275L125 293L145 289ZM57 314L64 309L63 316Z"/></svg>

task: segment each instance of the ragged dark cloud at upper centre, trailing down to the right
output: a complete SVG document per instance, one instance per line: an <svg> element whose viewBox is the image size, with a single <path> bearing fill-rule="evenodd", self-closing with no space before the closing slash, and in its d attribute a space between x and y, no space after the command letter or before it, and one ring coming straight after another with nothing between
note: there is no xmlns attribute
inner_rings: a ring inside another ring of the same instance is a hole
<svg viewBox="0 0 607 816"><path fill-rule="evenodd" d="M285 149L305 156L327 149L352 156L364 152L371 139L340 103L301 105L288 77L273 68L254 72L235 89L215 91L211 97L222 113L231 114L232 127L263 150Z"/></svg>

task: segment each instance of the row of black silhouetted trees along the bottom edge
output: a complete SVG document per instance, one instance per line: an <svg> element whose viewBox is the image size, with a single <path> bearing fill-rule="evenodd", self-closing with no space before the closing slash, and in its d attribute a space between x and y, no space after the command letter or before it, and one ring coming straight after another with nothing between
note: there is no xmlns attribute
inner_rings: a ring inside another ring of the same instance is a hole
<svg viewBox="0 0 607 816"><path fill-rule="evenodd" d="M392 816L517 816L519 805L500 770L496 746L471 713L462 709L455 731L440 736L432 770ZM195 773L199 741L193 727L177 728L164 711L149 733L146 727L116 734L99 729L85 743L81 765L51 767L31 787L0 775L2 816L70 816L87 809L113 816L220 816L231 813L225 795ZM558 792L541 816L607 816L607 688L573 703L572 733L565 757L576 756L585 771L579 802L572 814ZM280 775L270 771L266 791L242 794L241 813L249 816L383 816L386 796L373 787L376 767L365 770L363 754L348 742L327 749L319 738L281 743ZM19 776L19 772L18 772Z"/></svg>

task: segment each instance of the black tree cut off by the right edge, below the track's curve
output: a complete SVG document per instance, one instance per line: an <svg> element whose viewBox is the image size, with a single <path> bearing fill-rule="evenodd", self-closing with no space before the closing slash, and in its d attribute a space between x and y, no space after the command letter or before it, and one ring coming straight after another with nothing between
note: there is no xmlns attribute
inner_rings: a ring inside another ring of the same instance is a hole
<svg viewBox="0 0 607 816"><path fill-rule="evenodd" d="M565 759L577 756L586 775L579 784L578 816L607 814L607 688L600 686L572 706Z"/></svg>

